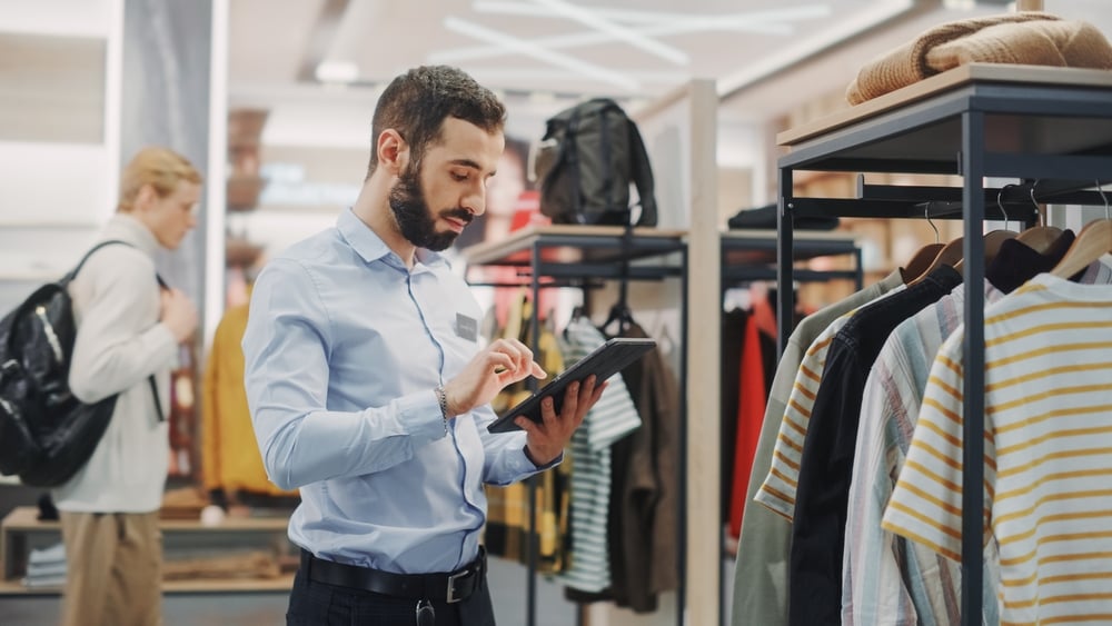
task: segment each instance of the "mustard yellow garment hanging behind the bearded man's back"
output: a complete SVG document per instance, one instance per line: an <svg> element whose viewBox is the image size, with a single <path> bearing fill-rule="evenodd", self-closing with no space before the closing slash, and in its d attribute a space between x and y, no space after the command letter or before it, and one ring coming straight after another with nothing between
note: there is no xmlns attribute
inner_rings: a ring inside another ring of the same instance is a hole
<svg viewBox="0 0 1112 626"><path fill-rule="evenodd" d="M201 471L207 490L295 496L276 487L262 468L244 390L247 305L229 308L212 337L201 387Z"/></svg>

